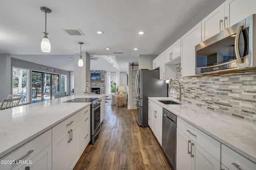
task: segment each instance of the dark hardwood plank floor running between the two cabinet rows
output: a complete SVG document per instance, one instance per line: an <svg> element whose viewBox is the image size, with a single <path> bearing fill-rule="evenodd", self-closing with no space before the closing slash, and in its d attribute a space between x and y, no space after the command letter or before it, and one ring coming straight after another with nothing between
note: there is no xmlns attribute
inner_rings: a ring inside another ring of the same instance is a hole
<svg viewBox="0 0 256 170"><path fill-rule="evenodd" d="M139 127L136 110L106 106L94 145L88 145L74 170L173 170L149 127Z"/></svg>

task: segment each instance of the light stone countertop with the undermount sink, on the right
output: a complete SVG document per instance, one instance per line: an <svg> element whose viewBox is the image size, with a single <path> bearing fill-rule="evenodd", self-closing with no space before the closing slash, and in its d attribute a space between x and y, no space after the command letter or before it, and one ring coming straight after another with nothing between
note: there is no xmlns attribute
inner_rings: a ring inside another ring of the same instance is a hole
<svg viewBox="0 0 256 170"><path fill-rule="evenodd" d="M178 102L178 100L173 98L149 97L148 99L256 163L255 122L246 121L192 104L166 105L158 101L173 100Z"/></svg>

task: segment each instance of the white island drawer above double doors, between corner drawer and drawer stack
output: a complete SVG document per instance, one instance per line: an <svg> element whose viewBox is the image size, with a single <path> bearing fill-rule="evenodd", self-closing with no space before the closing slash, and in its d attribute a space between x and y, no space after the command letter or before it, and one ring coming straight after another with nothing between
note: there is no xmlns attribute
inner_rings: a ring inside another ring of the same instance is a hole
<svg viewBox="0 0 256 170"><path fill-rule="evenodd" d="M79 121L79 112L68 117L64 121L60 122L58 125L52 128L52 141L57 139L62 133L68 130L72 125Z"/></svg>

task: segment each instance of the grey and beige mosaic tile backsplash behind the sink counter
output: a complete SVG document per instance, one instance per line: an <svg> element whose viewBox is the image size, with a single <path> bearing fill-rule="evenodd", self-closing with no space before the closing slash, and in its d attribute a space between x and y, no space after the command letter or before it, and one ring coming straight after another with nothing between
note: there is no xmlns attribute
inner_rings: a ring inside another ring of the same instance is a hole
<svg viewBox="0 0 256 170"><path fill-rule="evenodd" d="M183 102L256 122L256 74L180 79L180 64L176 73ZM177 83L171 88L177 90ZM174 90L170 97L176 98Z"/></svg>

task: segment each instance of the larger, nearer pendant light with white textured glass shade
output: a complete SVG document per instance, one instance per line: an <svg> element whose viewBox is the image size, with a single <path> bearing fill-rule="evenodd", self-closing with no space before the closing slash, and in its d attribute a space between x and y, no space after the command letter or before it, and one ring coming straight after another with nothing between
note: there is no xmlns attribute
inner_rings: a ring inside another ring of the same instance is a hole
<svg viewBox="0 0 256 170"><path fill-rule="evenodd" d="M45 32L43 32L44 37L43 37L42 42L41 42L41 50L42 50L42 52L50 53L51 52L51 44L50 44L50 41L47 37L47 35L49 33L46 32L46 14L51 13L52 10L50 8L45 7L45 6L41 6L40 10L42 10L42 12L45 12Z"/></svg>

